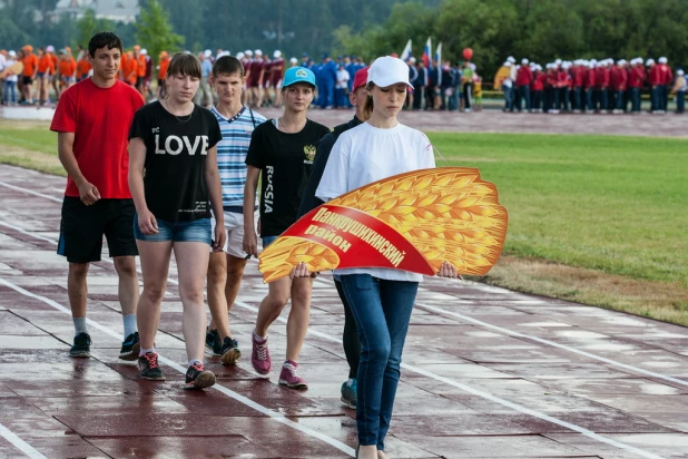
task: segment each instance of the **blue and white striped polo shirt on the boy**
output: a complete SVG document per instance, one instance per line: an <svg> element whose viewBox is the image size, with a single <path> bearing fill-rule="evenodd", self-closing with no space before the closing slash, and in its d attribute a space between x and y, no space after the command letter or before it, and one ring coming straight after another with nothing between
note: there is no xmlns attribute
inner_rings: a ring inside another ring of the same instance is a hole
<svg viewBox="0 0 688 459"><path fill-rule="evenodd" d="M253 129L265 117L243 107L234 118L226 118L215 107L210 109L223 134L217 144L217 166L223 185L223 206L243 206L246 185L246 154ZM253 115L253 116L252 116Z"/></svg>

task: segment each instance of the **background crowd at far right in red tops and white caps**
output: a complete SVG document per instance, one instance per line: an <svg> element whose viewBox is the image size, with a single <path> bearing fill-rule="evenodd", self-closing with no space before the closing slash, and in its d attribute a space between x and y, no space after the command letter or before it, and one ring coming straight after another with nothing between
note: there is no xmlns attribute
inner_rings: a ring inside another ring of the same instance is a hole
<svg viewBox="0 0 688 459"><path fill-rule="evenodd" d="M494 81L504 94L504 111L639 114L641 91L650 95L650 113L667 113L669 97L676 113L685 113L688 82L682 69L676 75L666 57L643 60L577 59L547 64L528 59L504 61Z"/></svg>

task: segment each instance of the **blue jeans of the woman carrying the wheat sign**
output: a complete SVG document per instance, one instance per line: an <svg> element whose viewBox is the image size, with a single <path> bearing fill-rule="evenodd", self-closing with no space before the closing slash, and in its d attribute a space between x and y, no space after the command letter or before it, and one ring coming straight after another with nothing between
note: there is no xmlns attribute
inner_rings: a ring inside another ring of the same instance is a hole
<svg viewBox="0 0 688 459"><path fill-rule="evenodd" d="M341 282L361 339L356 378L358 443L384 450L419 284L370 274L342 275Z"/></svg>

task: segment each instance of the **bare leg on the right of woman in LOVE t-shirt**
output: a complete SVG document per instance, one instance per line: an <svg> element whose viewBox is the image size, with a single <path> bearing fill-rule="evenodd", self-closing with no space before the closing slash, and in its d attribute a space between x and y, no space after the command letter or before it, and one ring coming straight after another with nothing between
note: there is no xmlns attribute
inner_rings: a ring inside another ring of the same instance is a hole
<svg viewBox="0 0 688 459"><path fill-rule="evenodd" d="M184 306L181 330L188 360L203 362L206 341L206 311L203 289L208 273L208 244L175 242L173 246L179 272L179 296Z"/></svg>

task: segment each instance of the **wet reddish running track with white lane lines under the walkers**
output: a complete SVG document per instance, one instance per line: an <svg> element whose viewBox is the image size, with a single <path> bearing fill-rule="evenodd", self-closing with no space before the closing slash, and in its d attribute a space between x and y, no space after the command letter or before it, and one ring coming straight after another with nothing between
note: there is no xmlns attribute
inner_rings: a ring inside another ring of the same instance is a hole
<svg viewBox="0 0 688 459"><path fill-rule="evenodd" d="M248 265L232 328L245 357L209 359L217 390L180 389L181 305L170 270L157 344L167 381L116 355L114 266L89 274L94 357L71 360L65 260L55 254L63 179L0 166L0 457L353 456L343 311L328 276L313 292L294 392L250 369L266 292ZM286 316L286 314L283 314ZM284 322L271 351L284 355ZM412 318L390 436L393 458L688 457L684 328L468 282L427 280Z"/></svg>

